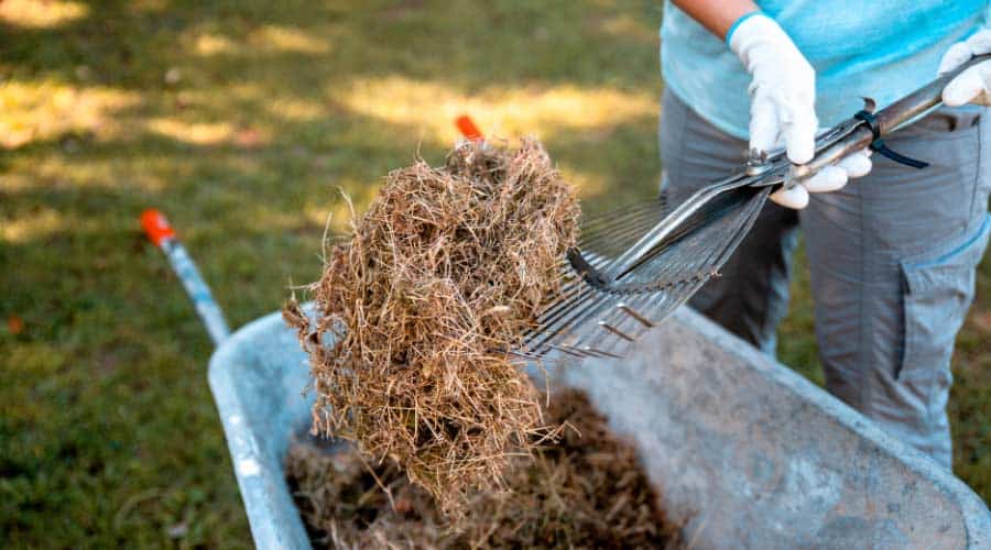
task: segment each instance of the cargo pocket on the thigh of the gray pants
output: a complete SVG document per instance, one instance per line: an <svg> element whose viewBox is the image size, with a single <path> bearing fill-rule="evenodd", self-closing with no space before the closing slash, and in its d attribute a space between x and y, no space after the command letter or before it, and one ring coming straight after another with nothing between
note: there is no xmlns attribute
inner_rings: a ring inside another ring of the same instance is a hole
<svg viewBox="0 0 991 550"><path fill-rule="evenodd" d="M919 405L935 403L952 381L950 358L973 300L976 268L988 246L991 216L978 229L937 250L901 262L905 279L904 349L895 378Z"/></svg>

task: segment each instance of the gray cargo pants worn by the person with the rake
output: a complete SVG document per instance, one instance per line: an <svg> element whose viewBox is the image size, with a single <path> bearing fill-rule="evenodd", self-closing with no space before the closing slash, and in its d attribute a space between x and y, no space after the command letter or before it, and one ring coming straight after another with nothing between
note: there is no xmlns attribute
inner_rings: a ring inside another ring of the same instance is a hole
<svg viewBox="0 0 991 550"><path fill-rule="evenodd" d="M827 388L950 468L950 355L991 232L991 116L944 109L887 143L932 166L875 154L867 177L801 212L769 202L690 305L773 354L801 228ZM739 169L745 148L665 92L662 186L675 204Z"/></svg>

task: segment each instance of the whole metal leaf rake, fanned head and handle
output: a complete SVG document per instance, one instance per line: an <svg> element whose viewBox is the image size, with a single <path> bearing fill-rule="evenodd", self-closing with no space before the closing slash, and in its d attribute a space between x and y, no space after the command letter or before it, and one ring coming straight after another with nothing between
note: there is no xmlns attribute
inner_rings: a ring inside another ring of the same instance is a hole
<svg viewBox="0 0 991 550"><path fill-rule="evenodd" d="M752 151L740 173L674 208L662 195L588 220L578 246L562 264L560 290L514 353L622 358L631 343L718 275L775 190L864 147L915 168L927 166L887 148L884 136L938 108L949 80L989 58L974 57L878 112L864 98L863 110L818 136L808 164L793 165L781 150Z"/></svg>

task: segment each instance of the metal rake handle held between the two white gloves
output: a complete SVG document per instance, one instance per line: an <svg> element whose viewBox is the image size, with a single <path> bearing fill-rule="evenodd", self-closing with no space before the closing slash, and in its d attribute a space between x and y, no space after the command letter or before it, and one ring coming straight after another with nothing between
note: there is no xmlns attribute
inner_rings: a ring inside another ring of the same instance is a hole
<svg viewBox="0 0 991 550"><path fill-rule="evenodd" d="M932 109L943 105L943 90L950 80L968 68L991 61L991 54L976 56L956 69L943 75L912 94L899 99L894 103L881 109L874 114L874 120L881 131L881 138L891 135L900 127L921 117ZM810 174L816 174L824 167L869 146L874 141L874 134L867 125L861 125L842 141L827 147L806 164Z"/></svg>

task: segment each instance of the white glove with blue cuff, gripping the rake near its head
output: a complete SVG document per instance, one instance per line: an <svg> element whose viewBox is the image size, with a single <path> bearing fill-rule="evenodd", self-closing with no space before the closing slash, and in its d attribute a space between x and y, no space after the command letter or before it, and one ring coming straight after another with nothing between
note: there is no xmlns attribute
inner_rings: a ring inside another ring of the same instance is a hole
<svg viewBox="0 0 991 550"><path fill-rule="evenodd" d="M750 148L771 151L780 142L788 160L805 164L816 148L816 72L771 18L744 15L730 31L729 46L753 77L750 82ZM868 151L854 153L791 189L771 195L788 208L805 208L809 193L835 191L871 170Z"/></svg>

